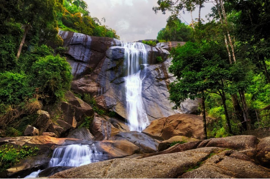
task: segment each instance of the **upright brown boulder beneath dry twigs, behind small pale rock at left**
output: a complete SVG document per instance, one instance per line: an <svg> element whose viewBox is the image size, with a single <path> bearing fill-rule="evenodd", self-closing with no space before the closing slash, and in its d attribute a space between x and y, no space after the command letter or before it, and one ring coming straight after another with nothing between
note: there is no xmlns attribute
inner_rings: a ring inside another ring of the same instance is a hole
<svg viewBox="0 0 270 179"><path fill-rule="evenodd" d="M46 132L50 124L52 124L52 120L50 114L46 111L38 110L37 114L39 116L35 121L34 127L39 129L39 135L41 135L43 132Z"/></svg>

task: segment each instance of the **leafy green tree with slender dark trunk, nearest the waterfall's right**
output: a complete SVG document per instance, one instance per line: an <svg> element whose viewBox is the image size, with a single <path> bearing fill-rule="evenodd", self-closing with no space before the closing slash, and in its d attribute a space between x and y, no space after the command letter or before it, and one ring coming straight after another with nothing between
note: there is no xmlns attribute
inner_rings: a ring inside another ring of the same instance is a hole
<svg viewBox="0 0 270 179"><path fill-rule="evenodd" d="M178 46L171 51L173 57L169 72L176 76L176 81L170 84L170 101L174 102L173 109L180 107L185 99L202 98L204 138L207 139L205 94L204 91L210 85L202 74L201 67L206 61L200 52L197 43L187 42L184 46Z"/></svg>

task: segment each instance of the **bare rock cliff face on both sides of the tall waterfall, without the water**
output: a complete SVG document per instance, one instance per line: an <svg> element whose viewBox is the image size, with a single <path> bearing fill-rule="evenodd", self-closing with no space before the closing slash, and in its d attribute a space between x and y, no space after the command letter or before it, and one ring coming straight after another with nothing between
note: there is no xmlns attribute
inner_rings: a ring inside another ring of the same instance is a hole
<svg viewBox="0 0 270 179"><path fill-rule="evenodd" d="M72 66L74 80L72 90L81 94L91 94L99 107L111 109L127 119L124 52L121 41L105 37L92 37L74 32L60 31L67 48L66 56ZM184 42L179 42L183 45ZM143 102L150 121L176 113L194 113L198 101L187 100L178 110L172 110L168 101L169 84L175 79L168 73L171 59L168 50L177 42L158 43L151 47L144 45L149 66L141 70L145 76L142 87ZM157 63L157 56L164 60Z"/></svg>

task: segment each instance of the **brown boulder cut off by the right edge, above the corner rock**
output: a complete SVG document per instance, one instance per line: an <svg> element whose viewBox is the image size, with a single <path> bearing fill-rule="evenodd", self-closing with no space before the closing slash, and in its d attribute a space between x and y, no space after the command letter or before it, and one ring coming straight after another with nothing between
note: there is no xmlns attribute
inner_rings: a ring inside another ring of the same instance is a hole
<svg viewBox="0 0 270 179"><path fill-rule="evenodd" d="M257 151L259 162L265 167L270 167L270 137L265 137L259 141Z"/></svg>

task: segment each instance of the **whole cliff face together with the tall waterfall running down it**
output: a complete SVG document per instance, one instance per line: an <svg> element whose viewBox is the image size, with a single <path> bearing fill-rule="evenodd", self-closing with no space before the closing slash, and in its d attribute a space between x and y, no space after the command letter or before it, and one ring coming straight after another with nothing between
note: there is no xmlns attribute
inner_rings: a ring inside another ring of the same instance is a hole
<svg viewBox="0 0 270 179"><path fill-rule="evenodd" d="M98 107L113 110L130 121L131 130L141 131L147 126L147 119L152 121L198 110L198 101L187 100L180 109L172 110L173 104L168 100L169 84L175 79L168 73L171 61L168 50L178 42L151 47L140 42L123 43L74 32L60 31L59 35L68 48L66 56L75 77L72 90L90 94ZM157 62L158 56L164 60L162 63ZM136 103L134 98L137 98ZM138 126L133 120L138 118L136 116L141 116L141 127L135 127Z"/></svg>

